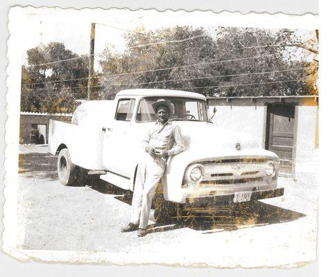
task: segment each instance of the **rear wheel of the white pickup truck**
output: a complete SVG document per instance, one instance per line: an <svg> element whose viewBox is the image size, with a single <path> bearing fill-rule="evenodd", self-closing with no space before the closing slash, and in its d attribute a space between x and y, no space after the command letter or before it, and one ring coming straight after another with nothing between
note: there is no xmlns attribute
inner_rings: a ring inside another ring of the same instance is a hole
<svg viewBox="0 0 328 277"><path fill-rule="evenodd" d="M79 168L71 162L69 150L64 148L58 154L57 172L60 183L64 186L73 185L78 177Z"/></svg>

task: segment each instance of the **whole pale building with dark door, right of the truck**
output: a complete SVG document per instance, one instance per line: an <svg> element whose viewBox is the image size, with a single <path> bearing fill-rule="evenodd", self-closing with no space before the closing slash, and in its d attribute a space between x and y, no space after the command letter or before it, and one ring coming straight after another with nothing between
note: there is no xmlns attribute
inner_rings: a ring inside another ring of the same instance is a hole
<svg viewBox="0 0 328 277"><path fill-rule="evenodd" d="M297 177L318 155L318 96L209 98L212 121L252 134L281 161L280 175Z"/></svg>

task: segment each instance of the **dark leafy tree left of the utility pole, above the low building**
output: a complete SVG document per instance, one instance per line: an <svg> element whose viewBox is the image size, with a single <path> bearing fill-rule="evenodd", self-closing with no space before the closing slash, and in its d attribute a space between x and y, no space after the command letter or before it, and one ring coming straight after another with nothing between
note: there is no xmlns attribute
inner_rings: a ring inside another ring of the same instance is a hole
<svg viewBox="0 0 328 277"><path fill-rule="evenodd" d="M86 56L73 53L60 42L40 44L29 49L27 56L28 65L21 69L22 110L71 112L75 100L87 98Z"/></svg>

